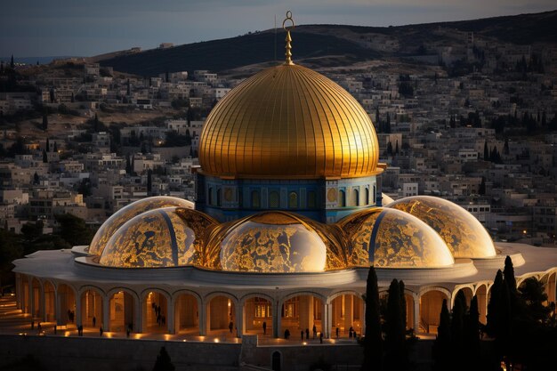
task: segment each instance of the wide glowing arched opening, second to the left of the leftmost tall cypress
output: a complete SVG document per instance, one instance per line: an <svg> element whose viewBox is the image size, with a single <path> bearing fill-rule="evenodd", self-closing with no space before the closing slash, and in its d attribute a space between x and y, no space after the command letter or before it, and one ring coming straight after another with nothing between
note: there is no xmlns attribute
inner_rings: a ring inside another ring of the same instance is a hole
<svg viewBox="0 0 557 371"><path fill-rule="evenodd" d="M316 296L301 294L288 298L281 306L278 336L284 337L288 330L291 339L301 339L303 331L303 338L306 339L306 330L308 330L310 339L318 339L319 333L323 331L323 312L324 303Z"/></svg>

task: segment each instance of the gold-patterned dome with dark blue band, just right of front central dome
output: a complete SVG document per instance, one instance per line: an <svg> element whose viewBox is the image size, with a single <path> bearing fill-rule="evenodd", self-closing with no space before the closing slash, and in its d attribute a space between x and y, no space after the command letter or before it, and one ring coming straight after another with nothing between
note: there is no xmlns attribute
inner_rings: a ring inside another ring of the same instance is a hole
<svg viewBox="0 0 557 371"><path fill-rule="evenodd" d="M396 209L362 210L337 225L346 236L349 266L441 268L455 262L435 230L416 216Z"/></svg>

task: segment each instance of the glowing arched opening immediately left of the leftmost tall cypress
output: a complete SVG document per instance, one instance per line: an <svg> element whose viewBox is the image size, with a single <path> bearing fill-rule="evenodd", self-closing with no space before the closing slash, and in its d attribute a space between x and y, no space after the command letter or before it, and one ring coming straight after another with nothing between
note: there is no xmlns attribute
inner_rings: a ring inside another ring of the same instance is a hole
<svg viewBox="0 0 557 371"><path fill-rule="evenodd" d="M349 337L349 330L362 333L364 327L364 301L355 294L341 294L331 302L332 328L331 336Z"/></svg>

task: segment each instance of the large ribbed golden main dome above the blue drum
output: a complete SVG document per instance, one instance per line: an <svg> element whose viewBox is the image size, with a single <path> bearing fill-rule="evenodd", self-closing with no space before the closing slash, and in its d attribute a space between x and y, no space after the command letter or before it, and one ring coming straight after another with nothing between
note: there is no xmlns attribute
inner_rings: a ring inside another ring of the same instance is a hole
<svg viewBox="0 0 557 371"><path fill-rule="evenodd" d="M371 119L350 93L294 64L232 89L199 141L204 173L238 178L352 178L380 173Z"/></svg>

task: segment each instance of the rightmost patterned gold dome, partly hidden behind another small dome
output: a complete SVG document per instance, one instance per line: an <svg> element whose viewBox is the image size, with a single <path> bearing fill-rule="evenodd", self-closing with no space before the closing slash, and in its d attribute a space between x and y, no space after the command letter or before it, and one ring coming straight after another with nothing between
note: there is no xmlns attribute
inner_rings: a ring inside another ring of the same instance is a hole
<svg viewBox="0 0 557 371"><path fill-rule="evenodd" d="M416 216L445 240L456 258L490 258L496 255L493 240L483 225L464 208L443 198L401 198L392 207Z"/></svg>

